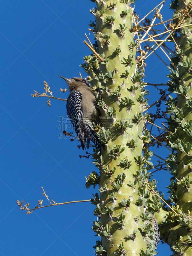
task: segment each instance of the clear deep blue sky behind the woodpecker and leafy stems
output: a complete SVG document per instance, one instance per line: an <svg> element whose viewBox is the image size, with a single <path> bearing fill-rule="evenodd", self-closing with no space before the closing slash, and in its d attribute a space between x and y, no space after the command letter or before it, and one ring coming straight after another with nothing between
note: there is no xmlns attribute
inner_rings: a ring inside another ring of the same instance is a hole
<svg viewBox="0 0 192 256"><path fill-rule="evenodd" d="M164 20L172 15L169 3ZM136 1L137 14L143 17L156 4ZM71 78L81 71L86 76L79 65L90 54L83 41L93 6L89 0L0 1L0 255L94 255L93 205L54 206L28 216L16 203L24 199L34 207L43 199L47 204L41 186L55 202L86 200L97 192L84 186L84 176L95 170L91 159L78 157L83 151L77 140L59 139L59 116L66 116L66 102L51 100L48 107L45 98L30 96L33 90L44 92L46 81L55 97L67 97L68 92L60 92L67 85L58 74ZM147 64L145 82L166 83L169 70L155 55ZM149 89L150 104L158 94ZM156 154L166 158L168 151ZM157 172L154 178L159 190L167 192L168 173ZM158 252L170 255L169 246L160 244Z"/></svg>

